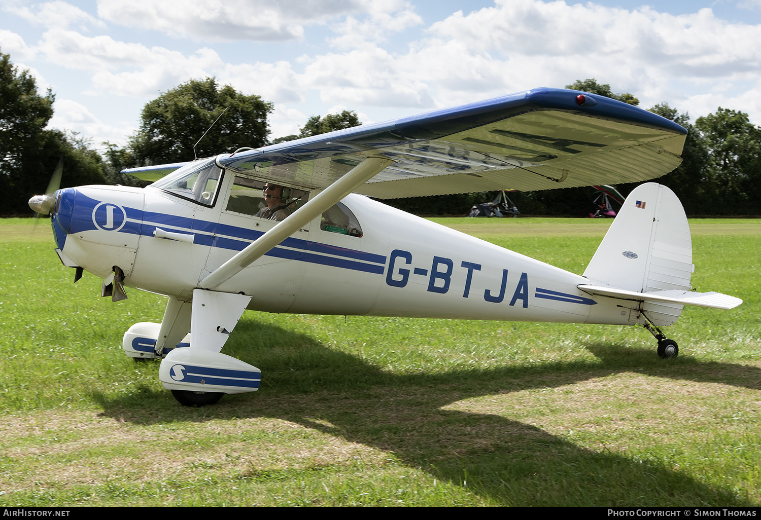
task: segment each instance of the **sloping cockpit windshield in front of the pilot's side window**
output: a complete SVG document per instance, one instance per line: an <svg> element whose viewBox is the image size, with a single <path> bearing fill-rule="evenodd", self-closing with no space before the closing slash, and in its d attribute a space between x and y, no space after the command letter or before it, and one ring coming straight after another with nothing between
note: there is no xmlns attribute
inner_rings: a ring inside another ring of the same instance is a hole
<svg viewBox="0 0 761 520"><path fill-rule="evenodd" d="M205 206L214 205L222 170L210 159L193 161L151 186Z"/></svg>

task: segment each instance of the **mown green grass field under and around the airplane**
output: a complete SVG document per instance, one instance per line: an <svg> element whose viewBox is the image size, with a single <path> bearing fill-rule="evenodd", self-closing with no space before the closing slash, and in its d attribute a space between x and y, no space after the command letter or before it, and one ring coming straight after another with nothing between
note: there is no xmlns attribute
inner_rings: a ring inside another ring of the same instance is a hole
<svg viewBox="0 0 761 520"><path fill-rule="evenodd" d="M438 219L581 272L610 225ZM642 328L245 312L259 392L180 407L121 350L165 299L100 296L46 220L0 221L0 506L759 506L759 220L691 220L698 290Z"/></svg>

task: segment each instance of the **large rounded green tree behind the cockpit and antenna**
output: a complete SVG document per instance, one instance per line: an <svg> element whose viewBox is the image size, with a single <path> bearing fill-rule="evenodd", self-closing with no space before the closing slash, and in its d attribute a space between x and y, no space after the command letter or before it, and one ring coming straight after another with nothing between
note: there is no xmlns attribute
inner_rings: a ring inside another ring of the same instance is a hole
<svg viewBox="0 0 761 520"><path fill-rule="evenodd" d="M130 163L123 166L193 160L193 145L207 130L196 147L198 157L263 146L270 113L272 103L229 85L219 87L215 78L187 81L145 104L139 132L129 141L130 153L121 157Z"/></svg>

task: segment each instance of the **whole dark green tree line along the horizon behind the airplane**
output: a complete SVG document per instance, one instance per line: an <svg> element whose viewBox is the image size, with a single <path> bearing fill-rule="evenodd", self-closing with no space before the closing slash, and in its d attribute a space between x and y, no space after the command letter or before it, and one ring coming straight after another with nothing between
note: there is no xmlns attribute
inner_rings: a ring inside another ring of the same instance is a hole
<svg viewBox="0 0 761 520"><path fill-rule="evenodd" d="M614 94L594 79L567 88L612 97L638 106L632 94ZM355 112L310 116L298 134L270 139L272 103L244 95L215 78L190 80L145 104L140 126L125 146L103 143L103 154L88 138L47 128L55 95L40 94L28 71L18 70L0 52L0 216L28 215L27 200L45 191L56 164L63 160L62 187L85 184L139 185L119 173L125 168L176 163L262 147L360 125ZM719 107L694 125L686 113L667 103L650 108L688 130L683 162L658 179L680 197L688 215L761 215L761 128L746 113ZM213 124L213 127L212 127ZM204 132L209 130L199 141ZM624 195L635 185L616 185ZM516 192L511 199L523 214L581 216L591 205L592 190L567 188ZM495 193L435 195L386 201L422 215L465 214Z"/></svg>

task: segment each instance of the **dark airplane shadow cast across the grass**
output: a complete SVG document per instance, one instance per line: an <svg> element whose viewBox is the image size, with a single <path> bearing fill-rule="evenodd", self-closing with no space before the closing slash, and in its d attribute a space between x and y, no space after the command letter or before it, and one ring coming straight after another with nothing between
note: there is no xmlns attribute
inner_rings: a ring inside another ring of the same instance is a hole
<svg viewBox="0 0 761 520"><path fill-rule="evenodd" d="M731 490L702 484L657 458L635 461L614 452L595 452L517 420L442 407L622 372L759 388L761 370L755 367L689 357L664 362L651 348L589 344L599 363L549 362L396 376L308 335L249 320L238 327L237 341L225 348L263 368L260 392L227 396L216 407L183 408L180 420L288 420L393 453L410 468L501 505L749 505ZM165 403L165 395L146 391L137 397L139 402L135 396L104 401L103 413L133 423L165 422L158 411L164 405L152 404Z"/></svg>

